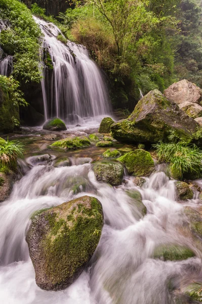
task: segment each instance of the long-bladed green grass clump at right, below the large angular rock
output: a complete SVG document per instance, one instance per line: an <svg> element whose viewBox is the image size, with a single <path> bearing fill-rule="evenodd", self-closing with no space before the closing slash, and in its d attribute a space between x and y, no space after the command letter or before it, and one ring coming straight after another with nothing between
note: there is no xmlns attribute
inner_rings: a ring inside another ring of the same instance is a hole
<svg viewBox="0 0 202 304"><path fill-rule="evenodd" d="M173 171L178 172L180 178L185 173L200 176L202 172L202 151L194 144L184 142L153 144L159 160L171 163Z"/></svg>

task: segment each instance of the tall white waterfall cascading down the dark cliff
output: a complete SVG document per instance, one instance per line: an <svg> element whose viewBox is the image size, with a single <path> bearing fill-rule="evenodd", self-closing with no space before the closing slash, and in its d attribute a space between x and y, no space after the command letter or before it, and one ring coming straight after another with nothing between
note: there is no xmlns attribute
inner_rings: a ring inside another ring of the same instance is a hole
<svg viewBox="0 0 202 304"><path fill-rule="evenodd" d="M49 52L53 63L51 77L45 68L42 80L45 118L57 116L70 123L109 115L107 88L87 49L72 42L62 43L57 39L62 33L56 25L33 18L41 27L43 49Z"/></svg>

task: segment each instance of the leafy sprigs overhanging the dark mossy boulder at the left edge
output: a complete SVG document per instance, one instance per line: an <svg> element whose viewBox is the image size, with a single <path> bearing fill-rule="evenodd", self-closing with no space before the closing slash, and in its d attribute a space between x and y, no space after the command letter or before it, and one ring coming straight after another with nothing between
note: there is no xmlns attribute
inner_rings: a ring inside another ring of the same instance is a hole
<svg viewBox="0 0 202 304"><path fill-rule="evenodd" d="M16 81L13 76L6 77L3 75L0 75L0 87L2 90L7 93L10 97L10 99L13 101L14 105L28 105L28 103L23 98L22 91L19 90L19 82Z"/></svg>

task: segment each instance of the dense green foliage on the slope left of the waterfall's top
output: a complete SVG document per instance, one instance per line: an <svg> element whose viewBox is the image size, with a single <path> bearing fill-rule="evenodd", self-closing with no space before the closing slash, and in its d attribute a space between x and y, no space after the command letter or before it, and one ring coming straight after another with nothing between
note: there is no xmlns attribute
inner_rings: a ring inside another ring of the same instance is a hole
<svg viewBox="0 0 202 304"><path fill-rule="evenodd" d="M0 41L5 53L14 55L13 75L25 82L39 82L39 37L41 31L27 7L17 0L0 0L0 18L9 20L1 31Z"/></svg>

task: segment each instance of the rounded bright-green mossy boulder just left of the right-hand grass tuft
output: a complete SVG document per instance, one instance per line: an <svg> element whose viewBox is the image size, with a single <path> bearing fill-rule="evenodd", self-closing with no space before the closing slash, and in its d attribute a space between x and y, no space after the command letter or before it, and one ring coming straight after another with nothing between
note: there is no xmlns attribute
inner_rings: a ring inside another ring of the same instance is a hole
<svg viewBox="0 0 202 304"><path fill-rule="evenodd" d="M148 176L154 170L154 162L149 152L137 149L117 159L124 164L129 174L134 176Z"/></svg>

